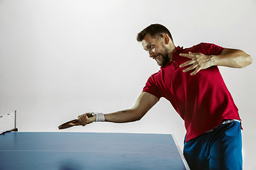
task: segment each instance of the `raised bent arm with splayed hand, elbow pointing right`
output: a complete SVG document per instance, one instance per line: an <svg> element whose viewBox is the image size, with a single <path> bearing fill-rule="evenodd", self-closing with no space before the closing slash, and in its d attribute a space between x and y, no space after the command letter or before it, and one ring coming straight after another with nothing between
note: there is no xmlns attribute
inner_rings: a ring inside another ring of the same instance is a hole
<svg viewBox="0 0 256 170"><path fill-rule="evenodd" d="M180 65L180 67L186 67L192 64L183 70L183 72L188 72L195 69L191 75L198 73L201 69L207 69L212 66L243 68L252 63L252 57L250 55L247 55L242 50L230 48L224 48L220 55L203 55L201 53L189 52L188 54L181 53L180 56L191 59Z"/></svg>

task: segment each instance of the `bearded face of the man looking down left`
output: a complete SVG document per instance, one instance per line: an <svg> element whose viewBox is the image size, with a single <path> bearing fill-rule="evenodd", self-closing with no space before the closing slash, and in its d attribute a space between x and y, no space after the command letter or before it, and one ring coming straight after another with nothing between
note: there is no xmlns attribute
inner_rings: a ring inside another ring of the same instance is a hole
<svg viewBox="0 0 256 170"><path fill-rule="evenodd" d="M168 49L164 45L164 38L152 38L151 35L146 34L142 40L142 47L149 52L149 57L156 60L159 66L164 66L170 61Z"/></svg>

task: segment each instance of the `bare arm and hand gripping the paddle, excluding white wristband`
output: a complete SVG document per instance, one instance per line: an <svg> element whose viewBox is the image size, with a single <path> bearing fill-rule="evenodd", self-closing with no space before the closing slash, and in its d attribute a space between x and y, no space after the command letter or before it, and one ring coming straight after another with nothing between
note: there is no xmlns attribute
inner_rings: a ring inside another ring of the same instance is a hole
<svg viewBox="0 0 256 170"><path fill-rule="evenodd" d="M112 123L128 123L140 120L158 101L159 98L156 96L142 92L142 94L139 95L139 98L137 98L133 108L105 114L105 121ZM79 124L77 125L87 125L95 121L96 116L88 118L87 114L88 113L78 116Z"/></svg>

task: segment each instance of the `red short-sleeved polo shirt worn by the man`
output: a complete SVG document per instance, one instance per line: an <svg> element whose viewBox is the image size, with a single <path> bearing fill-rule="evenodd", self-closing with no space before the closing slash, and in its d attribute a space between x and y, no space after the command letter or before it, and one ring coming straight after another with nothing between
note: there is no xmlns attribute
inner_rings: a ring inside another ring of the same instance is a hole
<svg viewBox="0 0 256 170"><path fill-rule="evenodd" d="M183 49L177 47L171 62L149 77L143 91L171 102L185 122L186 142L211 130L224 119L238 119L238 108L228 91L218 67L202 69L196 75L183 72L179 65L190 60L180 53L201 52L204 55L220 55L223 47L200 43Z"/></svg>

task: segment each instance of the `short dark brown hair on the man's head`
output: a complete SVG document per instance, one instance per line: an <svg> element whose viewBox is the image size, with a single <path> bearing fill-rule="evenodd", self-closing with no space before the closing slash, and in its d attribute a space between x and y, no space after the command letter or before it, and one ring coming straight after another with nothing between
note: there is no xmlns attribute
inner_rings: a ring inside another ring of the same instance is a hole
<svg viewBox="0 0 256 170"><path fill-rule="evenodd" d="M164 34L167 34L169 36L169 38L171 38L171 41L174 42L173 38L171 37L171 33L170 31L163 25L155 23L155 24L151 24L150 26L144 28L144 30L142 30L140 33L138 33L137 35L137 41L141 42L146 34L149 33L149 35L151 35L151 37L155 37L155 36L161 36L163 37Z"/></svg>

